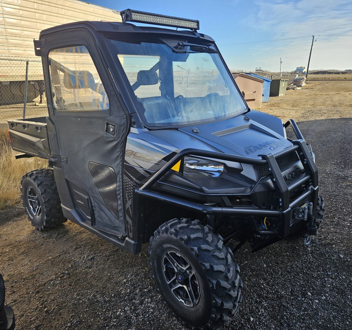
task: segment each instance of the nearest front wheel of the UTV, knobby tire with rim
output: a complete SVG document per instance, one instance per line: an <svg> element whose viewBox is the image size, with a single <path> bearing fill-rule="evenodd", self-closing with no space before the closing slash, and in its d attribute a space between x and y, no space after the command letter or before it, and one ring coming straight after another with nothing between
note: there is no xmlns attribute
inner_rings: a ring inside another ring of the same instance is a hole
<svg viewBox="0 0 352 330"><path fill-rule="evenodd" d="M149 264L165 303L191 329L220 329L242 300L232 252L199 220L174 219L150 238Z"/></svg>

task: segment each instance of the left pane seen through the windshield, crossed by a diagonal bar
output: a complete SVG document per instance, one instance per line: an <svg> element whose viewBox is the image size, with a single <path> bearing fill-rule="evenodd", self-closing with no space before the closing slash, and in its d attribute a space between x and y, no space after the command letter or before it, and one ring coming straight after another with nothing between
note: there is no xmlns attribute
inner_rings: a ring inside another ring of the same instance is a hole
<svg viewBox="0 0 352 330"><path fill-rule="evenodd" d="M160 60L159 56L124 55L124 54L118 54L117 56L122 67L124 68L127 79L130 82L132 87L137 82L137 74L139 71L151 69ZM145 78L150 78L150 75L148 75L148 77L145 77ZM144 79L145 85L141 84L141 85L138 85L136 89L133 89L134 94L136 94L138 98L161 96L160 81L158 81L158 79L159 79L159 70L156 70L155 79L151 79L156 81L148 81L149 79Z"/></svg>

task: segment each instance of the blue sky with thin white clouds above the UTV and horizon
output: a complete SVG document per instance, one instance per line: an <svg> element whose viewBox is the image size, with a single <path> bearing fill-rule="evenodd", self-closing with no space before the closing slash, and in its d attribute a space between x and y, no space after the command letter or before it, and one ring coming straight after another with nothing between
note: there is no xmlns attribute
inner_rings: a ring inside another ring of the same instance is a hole
<svg viewBox="0 0 352 330"><path fill-rule="evenodd" d="M306 66L312 35L317 41L313 46L310 68L352 69L351 0L89 2L119 11L131 8L198 19L199 32L215 39L230 69L262 67L279 71L280 57L282 71ZM249 43L284 38L295 39Z"/></svg>

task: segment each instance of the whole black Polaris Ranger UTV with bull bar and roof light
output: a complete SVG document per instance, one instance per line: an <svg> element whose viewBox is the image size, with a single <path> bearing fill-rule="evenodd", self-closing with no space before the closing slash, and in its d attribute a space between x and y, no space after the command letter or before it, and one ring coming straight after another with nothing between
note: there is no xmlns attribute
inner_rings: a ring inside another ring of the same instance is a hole
<svg viewBox="0 0 352 330"><path fill-rule="evenodd" d="M305 244L316 234L314 154L293 120L248 108L198 21L121 15L34 41L49 115L11 120L9 132L17 158L46 158L49 169L24 175L23 205L38 230L70 219L133 254L150 242L166 304L192 329L219 329L241 301L233 252L294 226Z"/></svg>

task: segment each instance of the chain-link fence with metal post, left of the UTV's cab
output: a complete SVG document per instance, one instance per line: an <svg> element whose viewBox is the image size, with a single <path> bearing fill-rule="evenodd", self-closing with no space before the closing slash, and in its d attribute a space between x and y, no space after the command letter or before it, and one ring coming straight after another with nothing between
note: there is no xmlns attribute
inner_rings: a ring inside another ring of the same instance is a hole
<svg viewBox="0 0 352 330"><path fill-rule="evenodd" d="M42 61L38 57L0 57L0 124L46 115Z"/></svg>

